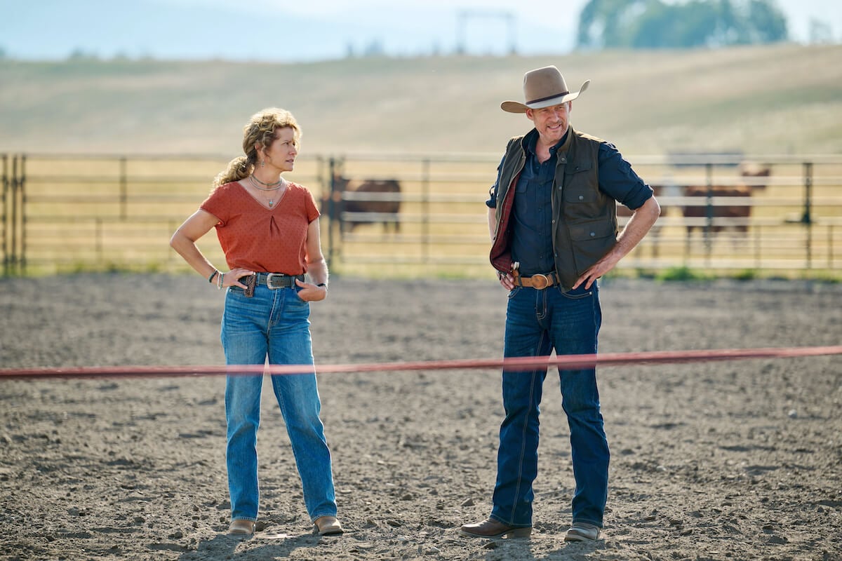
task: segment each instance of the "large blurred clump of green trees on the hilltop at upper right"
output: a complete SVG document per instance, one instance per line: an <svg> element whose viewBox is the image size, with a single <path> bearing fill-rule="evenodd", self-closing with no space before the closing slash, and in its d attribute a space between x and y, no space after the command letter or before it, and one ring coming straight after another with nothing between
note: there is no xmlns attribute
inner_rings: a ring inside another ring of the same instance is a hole
<svg viewBox="0 0 842 561"><path fill-rule="evenodd" d="M774 0L589 0L579 14L582 49L682 49L787 39Z"/></svg>

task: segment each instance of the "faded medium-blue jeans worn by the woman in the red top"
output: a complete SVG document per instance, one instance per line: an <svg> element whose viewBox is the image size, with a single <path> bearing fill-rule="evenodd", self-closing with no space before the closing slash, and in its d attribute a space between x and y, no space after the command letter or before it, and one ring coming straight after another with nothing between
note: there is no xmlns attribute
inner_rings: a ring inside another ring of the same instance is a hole
<svg viewBox="0 0 842 561"><path fill-rule="evenodd" d="M296 288L270 290L258 285L253 298L228 288L222 316L222 347L227 364L313 364L310 304ZM311 520L336 516L330 451L319 419L321 402L315 368L270 376L290 436L292 453ZM232 520L257 520L258 454L262 374L229 374L225 388L228 424L226 463Z"/></svg>

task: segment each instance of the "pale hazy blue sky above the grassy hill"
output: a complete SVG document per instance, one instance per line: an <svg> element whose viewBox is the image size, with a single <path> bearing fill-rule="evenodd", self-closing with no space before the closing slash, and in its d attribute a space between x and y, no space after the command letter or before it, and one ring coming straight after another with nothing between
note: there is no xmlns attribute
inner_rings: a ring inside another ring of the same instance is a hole
<svg viewBox="0 0 842 561"><path fill-rule="evenodd" d="M791 38L811 20L842 42L839 0L777 0ZM23 60L129 58L318 61L389 56L566 53L587 0L0 0L0 50ZM515 7L515 4L517 7Z"/></svg>

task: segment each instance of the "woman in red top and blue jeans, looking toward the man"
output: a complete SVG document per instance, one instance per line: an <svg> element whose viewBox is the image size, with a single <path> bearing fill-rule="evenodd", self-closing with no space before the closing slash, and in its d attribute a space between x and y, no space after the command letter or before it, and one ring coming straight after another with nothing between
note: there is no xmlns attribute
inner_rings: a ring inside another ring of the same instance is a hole
<svg viewBox="0 0 842 561"><path fill-rule="evenodd" d="M310 302L328 295L328 266L312 194L280 177L291 172L301 129L288 111L268 108L243 130L242 150L214 182L200 209L170 245L211 284L226 288L221 340L229 365L313 364ZM227 272L202 255L196 241L216 228ZM307 273L312 283L304 281ZM342 533L314 369L272 375L304 490L321 535ZM258 516L257 431L263 376L226 378L226 463L231 495L228 533L251 535Z"/></svg>

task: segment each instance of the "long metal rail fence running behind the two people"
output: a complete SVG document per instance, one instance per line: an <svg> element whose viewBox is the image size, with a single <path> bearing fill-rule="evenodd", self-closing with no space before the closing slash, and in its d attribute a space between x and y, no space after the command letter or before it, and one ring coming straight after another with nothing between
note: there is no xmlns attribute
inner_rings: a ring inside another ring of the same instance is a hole
<svg viewBox="0 0 842 561"><path fill-rule="evenodd" d="M186 268L169 236L221 156L2 154L3 273ZM499 155L300 156L335 271L488 271L484 201ZM663 212L621 267L842 268L842 157L630 156ZM750 171L746 164L751 164ZM626 214L619 209L621 223ZM200 240L223 260L216 236Z"/></svg>

